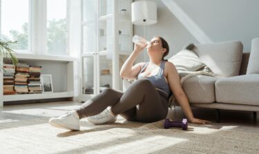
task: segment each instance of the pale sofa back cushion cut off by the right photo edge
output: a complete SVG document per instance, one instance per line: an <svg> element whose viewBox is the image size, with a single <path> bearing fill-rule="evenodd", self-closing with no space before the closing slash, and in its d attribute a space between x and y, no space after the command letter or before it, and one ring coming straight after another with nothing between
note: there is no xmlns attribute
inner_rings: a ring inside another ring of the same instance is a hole
<svg viewBox="0 0 259 154"><path fill-rule="evenodd" d="M259 74L259 38L252 40L247 74Z"/></svg>

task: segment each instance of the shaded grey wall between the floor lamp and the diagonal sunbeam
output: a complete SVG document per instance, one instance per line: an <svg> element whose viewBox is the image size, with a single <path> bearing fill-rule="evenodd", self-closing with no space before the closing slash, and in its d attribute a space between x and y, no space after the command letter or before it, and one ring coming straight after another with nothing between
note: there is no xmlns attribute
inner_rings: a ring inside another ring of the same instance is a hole
<svg viewBox="0 0 259 154"><path fill-rule="evenodd" d="M152 37L157 35L166 39L170 47L169 55L166 58L175 55L175 53L180 51L186 44L198 44L198 41L182 26L182 23L172 15L162 1L152 1L157 3L157 23L146 26L146 39L152 39ZM144 36L143 26L134 26L134 35Z"/></svg>

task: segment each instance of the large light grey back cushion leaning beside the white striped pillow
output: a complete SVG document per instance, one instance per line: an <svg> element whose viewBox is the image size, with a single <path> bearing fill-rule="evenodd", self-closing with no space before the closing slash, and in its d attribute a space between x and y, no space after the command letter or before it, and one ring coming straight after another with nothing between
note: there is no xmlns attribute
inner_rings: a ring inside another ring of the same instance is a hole
<svg viewBox="0 0 259 154"><path fill-rule="evenodd" d="M243 50L240 41L225 41L195 46L194 52L216 76L232 77L239 74Z"/></svg>

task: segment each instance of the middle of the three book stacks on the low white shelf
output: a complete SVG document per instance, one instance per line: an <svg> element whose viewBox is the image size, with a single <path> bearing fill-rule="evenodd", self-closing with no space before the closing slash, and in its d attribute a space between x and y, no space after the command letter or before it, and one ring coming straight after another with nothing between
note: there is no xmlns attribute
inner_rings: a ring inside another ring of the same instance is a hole
<svg viewBox="0 0 259 154"><path fill-rule="evenodd" d="M15 74L15 91L16 93L28 93L27 78L29 75L28 64L18 63Z"/></svg>

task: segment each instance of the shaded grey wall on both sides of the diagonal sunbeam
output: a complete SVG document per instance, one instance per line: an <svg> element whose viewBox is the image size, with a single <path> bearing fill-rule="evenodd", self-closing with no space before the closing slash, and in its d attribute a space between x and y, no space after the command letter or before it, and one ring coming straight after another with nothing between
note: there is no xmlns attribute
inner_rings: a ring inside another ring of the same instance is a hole
<svg viewBox="0 0 259 154"><path fill-rule="evenodd" d="M169 42L171 52L167 58L189 43L198 40L178 21L160 0L157 3L157 23L146 27L146 38L155 35ZM171 1L171 0L168 0ZM250 51L251 39L259 37L258 0L172 0L213 41L240 40L244 52ZM134 34L143 36L143 27L134 26Z"/></svg>

